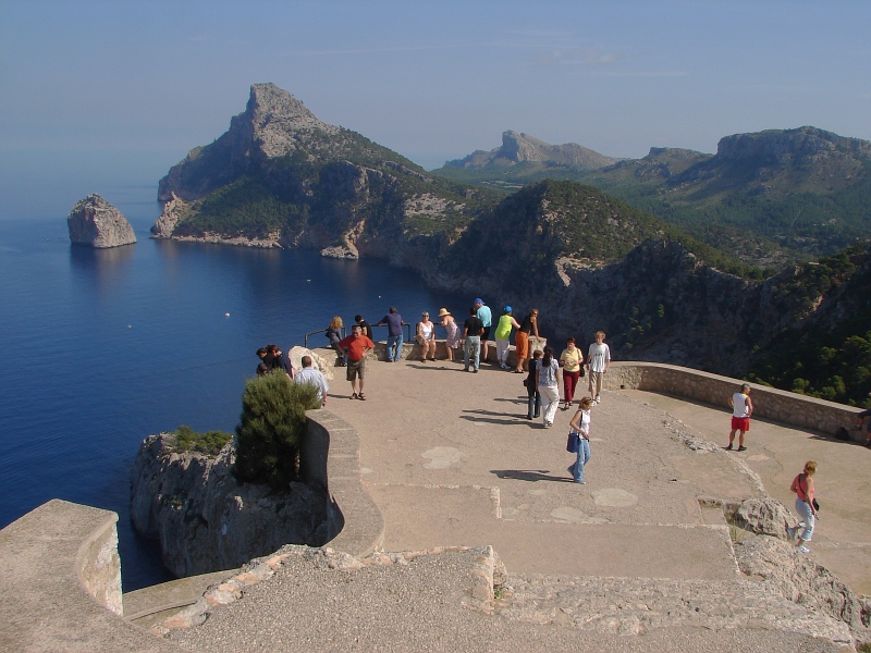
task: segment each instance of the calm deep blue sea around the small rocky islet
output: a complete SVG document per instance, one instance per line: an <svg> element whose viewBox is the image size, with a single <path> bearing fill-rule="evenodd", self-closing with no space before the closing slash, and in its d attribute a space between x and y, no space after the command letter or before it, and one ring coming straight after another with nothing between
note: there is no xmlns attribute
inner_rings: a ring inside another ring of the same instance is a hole
<svg viewBox="0 0 871 653"><path fill-rule="evenodd" d="M169 578L130 525L144 438L232 431L258 346L303 344L336 313L375 322L391 305L408 322L440 306L462 316L474 297L373 261L151 241L154 187L102 194L136 245L72 246L65 213L0 220L0 527L50 498L114 510L131 591Z"/></svg>

